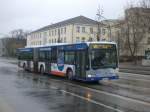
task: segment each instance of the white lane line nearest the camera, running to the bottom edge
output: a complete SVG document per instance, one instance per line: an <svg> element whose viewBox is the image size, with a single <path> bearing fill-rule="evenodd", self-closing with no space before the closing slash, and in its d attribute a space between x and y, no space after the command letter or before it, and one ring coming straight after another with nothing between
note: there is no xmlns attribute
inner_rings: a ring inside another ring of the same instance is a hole
<svg viewBox="0 0 150 112"><path fill-rule="evenodd" d="M50 88L52 88L52 89L58 89L57 87L54 87L54 86L50 86ZM94 104L97 104L97 105L99 105L99 106L103 106L103 107L108 108L108 109L110 109L110 110L113 110L113 111L115 111L115 112L124 112L124 111L119 110L119 109L117 109L117 108L114 108L114 107L105 105L105 104L103 104L103 103L100 103L100 102L97 102L97 101L95 101L95 100L92 100L92 99L89 99L89 98L80 96L80 95L75 94L75 93L72 93L72 92L68 92L68 91L65 91L65 90L62 90L62 89L60 89L59 91L61 91L61 92L63 92L63 93L70 94L70 95L75 96L75 97L78 97L78 98L80 98L80 99L82 99L82 100L86 100L86 101L88 101L88 102L90 102L90 103L94 103Z"/></svg>

